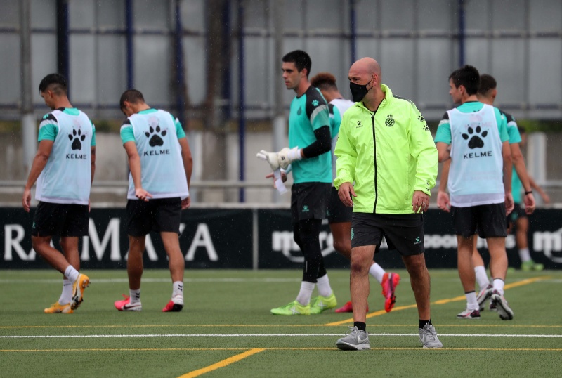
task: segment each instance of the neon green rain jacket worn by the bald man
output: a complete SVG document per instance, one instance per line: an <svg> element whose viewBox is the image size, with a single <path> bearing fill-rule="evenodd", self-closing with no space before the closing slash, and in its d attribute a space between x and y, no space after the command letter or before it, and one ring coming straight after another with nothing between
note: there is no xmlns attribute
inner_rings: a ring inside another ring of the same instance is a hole
<svg viewBox="0 0 562 378"><path fill-rule="evenodd" d="M344 113L334 185L355 183L354 212L412 214L414 190L429 195L435 185L438 152L416 105L381 88L386 96L375 112L355 103Z"/></svg>

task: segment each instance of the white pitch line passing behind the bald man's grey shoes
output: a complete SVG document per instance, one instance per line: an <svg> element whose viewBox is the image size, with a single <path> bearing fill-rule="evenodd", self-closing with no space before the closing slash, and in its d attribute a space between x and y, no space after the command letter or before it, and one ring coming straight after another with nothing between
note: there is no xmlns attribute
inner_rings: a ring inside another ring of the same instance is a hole
<svg viewBox="0 0 562 378"><path fill-rule="evenodd" d="M0 339L67 339L67 338L93 338L93 337L318 337L341 336L341 333L331 334L67 334L67 335L13 335L0 336ZM407 333L370 333L370 336L419 336ZM562 337L562 334L439 334L446 337Z"/></svg>

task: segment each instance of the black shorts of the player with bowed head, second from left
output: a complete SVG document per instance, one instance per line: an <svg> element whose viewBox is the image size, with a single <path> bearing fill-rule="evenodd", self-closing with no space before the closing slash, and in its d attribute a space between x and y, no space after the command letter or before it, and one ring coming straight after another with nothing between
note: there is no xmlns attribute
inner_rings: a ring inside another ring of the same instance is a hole
<svg viewBox="0 0 562 378"><path fill-rule="evenodd" d="M157 198L127 201L127 235L143 236L156 233L180 233L181 199Z"/></svg>

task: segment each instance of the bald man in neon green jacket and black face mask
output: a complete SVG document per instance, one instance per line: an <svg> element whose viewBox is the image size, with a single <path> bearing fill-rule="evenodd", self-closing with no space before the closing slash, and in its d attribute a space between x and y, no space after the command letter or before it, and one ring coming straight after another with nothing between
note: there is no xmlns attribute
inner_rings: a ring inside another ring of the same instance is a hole
<svg viewBox="0 0 562 378"><path fill-rule="evenodd" d="M341 121L336 143L339 198L353 206L351 301L354 326L336 343L340 349L370 348L365 330L369 267L382 237L402 256L417 303L419 340L441 348L431 324L429 272L424 258L424 219L435 185L438 152L429 127L410 100L381 84L381 68L362 58L349 70L355 105Z"/></svg>

